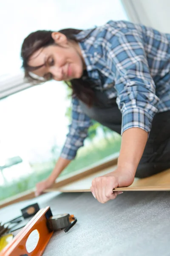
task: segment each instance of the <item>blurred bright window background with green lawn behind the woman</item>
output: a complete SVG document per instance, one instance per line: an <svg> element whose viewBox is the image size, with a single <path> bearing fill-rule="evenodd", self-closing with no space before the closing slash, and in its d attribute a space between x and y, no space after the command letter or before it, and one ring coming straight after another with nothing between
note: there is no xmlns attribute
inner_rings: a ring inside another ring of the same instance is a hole
<svg viewBox="0 0 170 256"><path fill-rule="evenodd" d="M169 0L6 0L0 2L0 200L48 177L71 120L70 90L50 81L31 87L23 79L20 48L39 29L88 29L130 20L170 32ZM85 146L61 175L119 152L121 137L94 122Z"/></svg>

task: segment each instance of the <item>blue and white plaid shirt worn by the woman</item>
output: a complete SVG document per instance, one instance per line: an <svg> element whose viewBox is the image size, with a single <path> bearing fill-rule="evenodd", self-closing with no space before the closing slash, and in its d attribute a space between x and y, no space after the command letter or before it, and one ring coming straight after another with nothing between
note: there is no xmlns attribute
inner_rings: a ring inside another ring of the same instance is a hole
<svg viewBox="0 0 170 256"><path fill-rule="evenodd" d="M133 127L149 132L156 112L170 110L170 34L127 21L109 21L84 30L78 39L88 76L122 112L122 133ZM74 159L91 119L72 99L72 123L61 157Z"/></svg>

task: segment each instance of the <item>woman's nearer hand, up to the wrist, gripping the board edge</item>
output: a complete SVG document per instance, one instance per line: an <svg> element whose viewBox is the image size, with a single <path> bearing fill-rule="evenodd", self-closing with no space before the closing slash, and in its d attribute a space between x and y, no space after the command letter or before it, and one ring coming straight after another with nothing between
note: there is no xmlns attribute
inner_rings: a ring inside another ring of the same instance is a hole
<svg viewBox="0 0 170 256"><path fill-rule="evenodd" d="M104 204L111 199L115 199L117 195L122 194L121 191L113 192L114 188L130 186L133 180L133 172L116 169L104 176L96 177L92 181L91 192L100 203Z"/></svg>

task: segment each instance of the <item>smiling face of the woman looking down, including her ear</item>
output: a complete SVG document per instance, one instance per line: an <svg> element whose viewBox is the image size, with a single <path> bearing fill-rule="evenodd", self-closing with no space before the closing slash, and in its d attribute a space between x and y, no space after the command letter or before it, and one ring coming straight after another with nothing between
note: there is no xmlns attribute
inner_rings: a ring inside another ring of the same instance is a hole
<svg viewBox="0 0 170 256"><path fill-rule="evenodd" d="M59 32L53 32L51 36L56 45L37 50L28 61L28 65L32 67L43 65L33 73L45 80L66 81L80 78L85 63L79 45L69 42Z"/></svg>

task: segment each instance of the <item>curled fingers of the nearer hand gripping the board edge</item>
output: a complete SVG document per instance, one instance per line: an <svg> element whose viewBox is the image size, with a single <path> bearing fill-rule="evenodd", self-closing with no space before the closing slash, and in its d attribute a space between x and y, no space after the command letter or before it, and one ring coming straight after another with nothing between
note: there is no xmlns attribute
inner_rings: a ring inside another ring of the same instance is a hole
<svg viewBox="0 0 170 256"><path fill-rule="evenodd" d="M117 186L118 183L113 176L96 177L92 181L91 192L100 203L104 204L122 194L122 192L118 191L113 192L113 189Z"/></svg>

